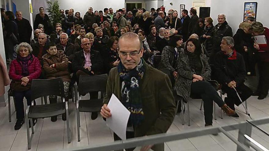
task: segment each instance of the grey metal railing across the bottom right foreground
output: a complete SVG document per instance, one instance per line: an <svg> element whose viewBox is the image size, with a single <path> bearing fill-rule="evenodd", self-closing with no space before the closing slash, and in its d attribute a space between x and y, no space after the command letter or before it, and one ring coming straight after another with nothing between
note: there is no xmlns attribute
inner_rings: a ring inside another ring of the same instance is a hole
<svg viewBox="0 0 269 151"><path fill-rule="evenodd" d="M251 122L251 124L249 122ZM137 146L146 146L150 144L159 144L169 141L175 141L180 139L186 139L216 133L223 133L229 139L231 139L237 145L237 151L251 151L251 149L249 148L250 146L256 150L268 151L268 149L266 149L261 144L259 144L258 142L256 142L254 139L251 138L251 133L252 133L252 124L255 125L268 124L269 117L258 120L250 120L249 122L241 122L220 127L184 130L182 132L175 134L163 133L157 135L149 135L149 136L131 138L123 141L115 141L109 144L69 149L65 151L111 151L124 148L132 148ZM239 130L238 138L235 138L228 132L237 129Z"/></svg>

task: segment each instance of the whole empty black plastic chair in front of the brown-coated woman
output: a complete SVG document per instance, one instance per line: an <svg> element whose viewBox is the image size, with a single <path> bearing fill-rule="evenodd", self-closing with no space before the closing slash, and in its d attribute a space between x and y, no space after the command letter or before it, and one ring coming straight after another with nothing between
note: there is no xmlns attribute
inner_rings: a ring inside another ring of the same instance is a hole
<svg viewBox="0 0 269 151"><path fill-rule="evenodd" d="M69 117L68 117L68 102L65 102L64 99L64 84L61 77L55 79L46 79L39 80L33 79L31 84L31 99L35 100L37 98L42 98L47 95L57 95L61 96L62 102L55 104L45 104L45 105L35 105L32 101L31 106L28 106L26 109L26 124L27 124L27 141L28 141L28 149L31 149L31 140L34 134L33 127L33 118L45 118L52 117L66 113L66 125L67 125L67 136L68 143L71 142L70 128L69 128ZM29 132L29 122L31 121L31 130L32 135L30 137Z"/></svg>

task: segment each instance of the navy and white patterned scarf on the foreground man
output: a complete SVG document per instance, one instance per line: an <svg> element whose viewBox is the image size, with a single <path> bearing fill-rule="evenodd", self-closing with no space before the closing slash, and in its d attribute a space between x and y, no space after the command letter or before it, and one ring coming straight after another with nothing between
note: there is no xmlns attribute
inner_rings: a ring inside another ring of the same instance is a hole
<svg viewBox="0 0 269 151"><path fill-rule="evenodd" d="M118 72L122 82L121 96L123 105L131 112L128 124L139 125L144 120L142 109L142 99L139 91L139 81L145 73L145 65L141 58L139 64L134 69L128 71L120 62Z"/></svg>

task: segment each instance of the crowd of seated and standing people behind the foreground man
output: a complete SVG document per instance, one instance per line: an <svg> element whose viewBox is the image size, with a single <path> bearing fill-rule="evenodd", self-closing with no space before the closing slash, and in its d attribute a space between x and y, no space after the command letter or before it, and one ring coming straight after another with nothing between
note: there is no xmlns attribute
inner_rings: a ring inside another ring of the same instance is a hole
<svg viewBox="0 0 269 151"><path fill-rule="evenodd" d="M32 79L62 77L68 100L69 87L74 81L78 82L80 75L109 74L113 67L122 65L123 60L119 56L132 59L141 50L143 62L168 75L175 98L188 101L198 96L203 100L205 126L212 125L213 102L228 116L239 117L234 105L239 106L242 102L235 90L242 101L251 95L259 96L258 99L267 96L269 47L258 45L253 37L265 35L269 42L269 29L254 21L253 17L241 23L233 36L224 14L217 16L218 23L214 26L211 17L199 19L195 8L190 9L190 16L187 10L178 12L173 9L166 16L160 8L157 11L152 8L150 12L138 9L127 13L125 9L113 13L112 8L105 8L94 13L89 7L83 19L79 12L74 16L73 9L68 10L67 16L64 16L63 10L60 12L61 23L57 23L53 31L44 8L40 8L35 18L35 38L20 41L17 58L10 64L9 76L13 80L10 87L14 91L17 109L16 130L24 123L23 98L27 99L28 105L31 104ZM179 13L182 18L179 18ZM12 19L12 14L6 14L9 20L14 19L14 15ZM21 13L16 13L16 16L18 20ZM21 29L18 30L20 37ZM127 33L138 35L142 42L139 52L119 51L119 38L124 39L121 37ZM156 56L161 56L160 61L155 59ZM246 76L256 75L256 63L259 85L253 93L244 82ZM218 81L223 92L227 93L224 101L208 80ZM98 94L90 95L92 98ZM57 96L49 96L49 99L51 103L57 102ZM178 111L181 111L180 108ZM63 120L65 116L62 116ZM91 118L96 119L97 114L92 114ZM57 117L51 117L51 121L56 120Z"/></svg>

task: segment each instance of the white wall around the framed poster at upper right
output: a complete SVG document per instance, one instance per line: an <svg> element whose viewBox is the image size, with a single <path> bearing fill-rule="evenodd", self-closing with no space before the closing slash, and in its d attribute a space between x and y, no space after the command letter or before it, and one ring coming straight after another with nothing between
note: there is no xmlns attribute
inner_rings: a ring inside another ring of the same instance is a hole
<svg viewBox="0 0 269 151"><path fill-rule="evenodd" d="M244 16L244 3L245 0L225 0L225 2L219 2L217 0L211 1L211 17L214 20L214 25L218 23L217 16L220 13L226 15L226 20L233 29L233 33L238 29L238 26L243 22ZM257 4L257 21L263 23L263 26L269 27L268 16L268 0L254 0L251 2L258 2Z"/></svg>

